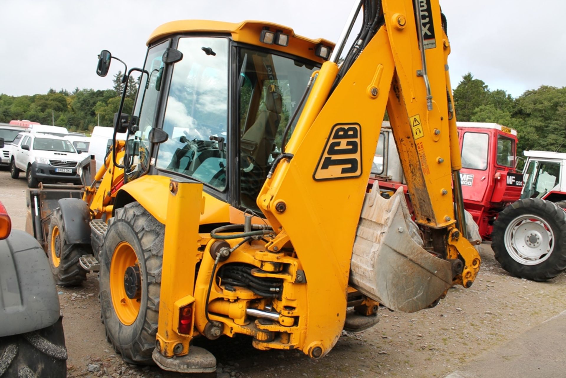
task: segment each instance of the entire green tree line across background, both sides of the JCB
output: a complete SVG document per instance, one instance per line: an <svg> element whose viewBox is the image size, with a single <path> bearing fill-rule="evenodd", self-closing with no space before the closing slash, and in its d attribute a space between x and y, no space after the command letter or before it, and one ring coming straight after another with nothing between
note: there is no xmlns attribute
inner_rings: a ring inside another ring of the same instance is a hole
<svg viewBox="0 0 566 378"><path fill-rule="evenodd" d="M99 124L112 126L123 90L122 73L114 75L108 90L75 88L49 90L47 94L0 94L0 122L30 120L65 126L71 131L91 131ZM131 114L138 83L130 78L124 112ZM516 129L518 154L523 150L566 152L566 87L541 86L513 98L505 90L490 90L468 73L454 88L458 121L496 122Z"/></svg>

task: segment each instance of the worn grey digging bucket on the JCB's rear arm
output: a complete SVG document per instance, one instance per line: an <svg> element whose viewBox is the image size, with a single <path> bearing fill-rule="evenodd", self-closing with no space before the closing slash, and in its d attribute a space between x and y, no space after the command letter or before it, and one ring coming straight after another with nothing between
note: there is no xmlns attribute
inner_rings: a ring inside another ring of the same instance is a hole
<svg viewBox="0 0 566 378"><path fill-rule="evenodd" d="M405 195L366 194L351 260L350 284L401 312L429 307L452 286L451 264L424 250Z"/></svg>

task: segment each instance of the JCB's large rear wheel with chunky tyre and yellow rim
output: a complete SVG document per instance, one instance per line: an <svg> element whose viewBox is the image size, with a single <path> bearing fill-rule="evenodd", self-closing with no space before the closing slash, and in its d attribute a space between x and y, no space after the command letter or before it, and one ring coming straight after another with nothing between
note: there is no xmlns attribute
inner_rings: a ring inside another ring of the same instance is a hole
<svg viewBox="0 0 566 378"><path fill-rule="evenodd" d="M100 253L102 322L128 363L153 364L164 234L165 226L132 202L115 211Z"/></svg>

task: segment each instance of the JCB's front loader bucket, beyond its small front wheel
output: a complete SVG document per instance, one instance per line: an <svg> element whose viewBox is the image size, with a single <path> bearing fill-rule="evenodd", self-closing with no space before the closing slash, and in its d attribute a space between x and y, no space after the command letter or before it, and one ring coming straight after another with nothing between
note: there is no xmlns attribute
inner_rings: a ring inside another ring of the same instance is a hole
<svg viewBox="0 0 566 378"><path fill-rule="evenodd" d="M49 223L53 210L59 207L61 198L83 198L84 186L92 185L95 176L96 163L93 156L88 156L79 163L83 185L49 185L41 184L39 189L28 189L26 193L27 217L25 231L37 239L47 252Z"/></svg>

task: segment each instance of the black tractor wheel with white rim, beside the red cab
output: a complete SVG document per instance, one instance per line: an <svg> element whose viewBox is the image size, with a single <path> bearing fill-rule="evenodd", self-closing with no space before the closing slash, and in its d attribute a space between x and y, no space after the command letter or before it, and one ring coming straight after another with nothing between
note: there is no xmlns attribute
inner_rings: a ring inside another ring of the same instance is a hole
<svg viewBox="0 0 566 378"><path fill-rule="evenodd" d="M555 203L513 202L495 220L491 238L496 260L516 277L546 281L566 270L566 212Z"/></svg>

